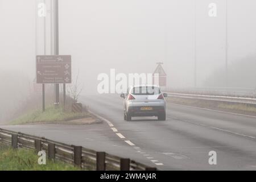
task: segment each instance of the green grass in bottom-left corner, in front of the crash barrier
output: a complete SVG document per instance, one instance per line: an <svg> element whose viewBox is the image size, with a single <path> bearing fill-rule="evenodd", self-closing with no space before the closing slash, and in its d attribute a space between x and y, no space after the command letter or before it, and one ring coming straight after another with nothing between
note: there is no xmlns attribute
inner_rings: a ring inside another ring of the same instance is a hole
<svg viewBox="0 0 256 182"><path fill-rule="evenodd" d="M18 149L0 144L0 171L80 171L71 164L51 160L38 164L39 156L34 150Z"/></svg>

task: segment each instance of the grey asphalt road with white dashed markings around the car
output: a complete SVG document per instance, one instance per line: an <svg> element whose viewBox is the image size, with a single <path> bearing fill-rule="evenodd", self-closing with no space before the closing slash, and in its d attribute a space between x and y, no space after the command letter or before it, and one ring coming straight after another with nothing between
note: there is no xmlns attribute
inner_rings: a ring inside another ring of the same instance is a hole
<svg viewBox="0 0 256 182"><path fill-rule="evenodd" d="M1 126L138 160L162 170L255 170L256 117L167 104L167 120L123 120L122 98L82 96L97 125ZM208 162L216 151L217 164Z"/></svg>

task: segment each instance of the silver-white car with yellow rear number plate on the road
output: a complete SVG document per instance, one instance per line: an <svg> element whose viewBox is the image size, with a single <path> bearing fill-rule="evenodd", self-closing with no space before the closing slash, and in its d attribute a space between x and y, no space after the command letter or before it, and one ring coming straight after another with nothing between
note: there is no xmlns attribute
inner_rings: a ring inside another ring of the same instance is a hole
<svg viewBox="0 0 256 182"><path fill-rule="evenodd" d="M158 117L166 120L166 93L162 93L159 86L133 86L127 93L121 94L123 101L123 118L131 121L131 117Z"/></svg>

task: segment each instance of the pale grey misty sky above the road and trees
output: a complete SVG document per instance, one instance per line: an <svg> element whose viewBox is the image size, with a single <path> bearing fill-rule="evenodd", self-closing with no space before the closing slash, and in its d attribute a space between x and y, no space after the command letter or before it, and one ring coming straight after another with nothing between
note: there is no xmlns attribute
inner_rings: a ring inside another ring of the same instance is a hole
<svg viewBox="0 0 256 182"><path fill-rule="evenodd" d="M208 16L209 3L217 17ZM225 66L225 6L196 0L197 80ZM255 0L228 1L229 64L256 48ZM168 86L193 86L195 1L60 0L60 55L72 55L85 90L96 92L97 75L152 73L164 63ZM34 0L0 0L0 71L35 77ZM40 52L41 53L41 52ZM38 52L38 54L40 54ZM89 88L89 89L88 89Z"/></svg>

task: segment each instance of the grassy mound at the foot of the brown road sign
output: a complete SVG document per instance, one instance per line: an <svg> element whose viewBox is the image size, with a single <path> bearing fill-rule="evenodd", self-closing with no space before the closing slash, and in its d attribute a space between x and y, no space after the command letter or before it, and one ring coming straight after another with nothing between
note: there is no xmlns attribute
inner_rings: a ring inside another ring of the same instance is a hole
<svg viewBox="0 0 256 182"><path fill-rule="evenodd" d="M52 123L52 122L64 122L71 121L73 119L81 119L89 117L89 113L73 113L72 111L64 111L63 107L55 108L54 106L46 107L46 111L37 109L30 111L20 117L10 121L11 125L20 125L26 123Z"/></svg>

